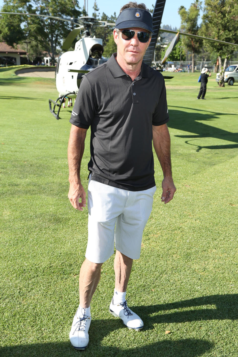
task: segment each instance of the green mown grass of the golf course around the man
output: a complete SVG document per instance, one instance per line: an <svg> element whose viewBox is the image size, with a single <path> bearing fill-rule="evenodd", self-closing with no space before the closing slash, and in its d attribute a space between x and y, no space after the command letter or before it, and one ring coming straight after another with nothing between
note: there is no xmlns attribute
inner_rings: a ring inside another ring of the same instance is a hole
<svg viewBox="0 0 238 357"><path fill-rule="evenodd" d="M202 101L197 78L166 80L177 192L160 202L156 162L153 211L127 289L145 328L127 330L109 313L111 257L91 304L89 346L79 352L68 333L87 212L67 198L71 110L62 109L60 120L50 114L54 80L0 69L0 356L238 356L238 84L219 88L212 74Z"/></svg>

